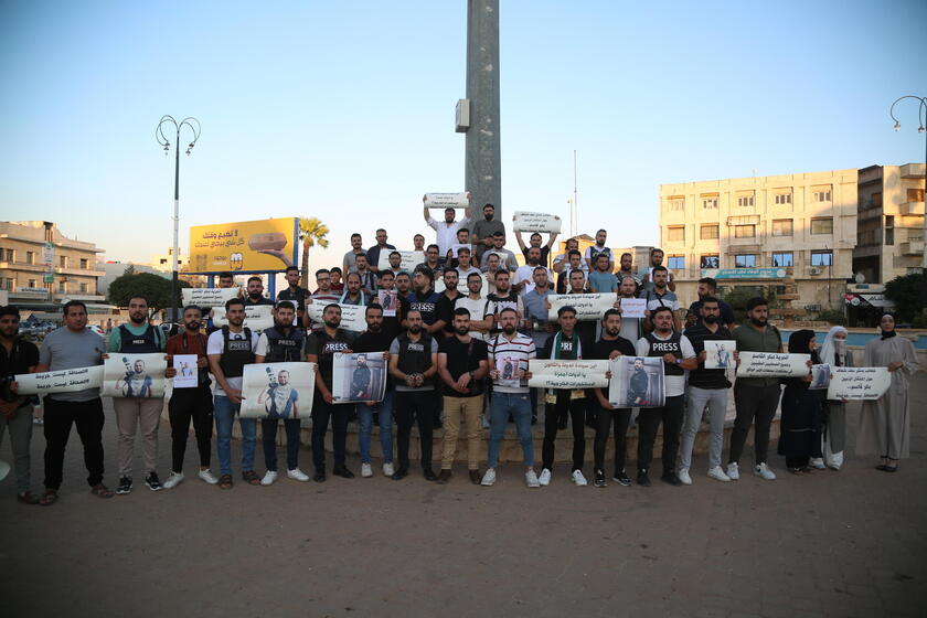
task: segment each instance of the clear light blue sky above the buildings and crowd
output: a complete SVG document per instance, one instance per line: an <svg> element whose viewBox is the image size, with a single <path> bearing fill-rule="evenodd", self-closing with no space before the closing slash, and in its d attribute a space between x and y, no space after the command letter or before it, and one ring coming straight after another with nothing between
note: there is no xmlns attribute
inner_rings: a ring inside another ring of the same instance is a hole
<svg viewBox="0 0 927 618"><path fill-rule="evenodd" d="M502 0L502 205L614 246L657 237L661 183L921 161L927 3ZM464 189L466 1L0 3L0 209L147 260L171 243L163 114L196 116L181 247L210 222L316 215L411 248ZM434 235L426 235L433 238Z"/></svg>

